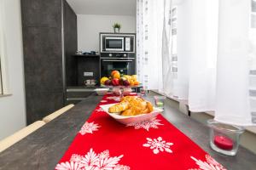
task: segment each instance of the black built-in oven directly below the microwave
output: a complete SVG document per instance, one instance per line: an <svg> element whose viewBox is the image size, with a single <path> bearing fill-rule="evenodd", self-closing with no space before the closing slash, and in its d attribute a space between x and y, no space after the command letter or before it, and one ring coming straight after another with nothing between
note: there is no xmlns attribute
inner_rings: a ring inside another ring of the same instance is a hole
<svg viewBox="0 0 256 170"><path fill-rule="evenodd" d="M134 58L102 58L101 59L101 77L109 77L112 71L119 71L120 74L135 74Z"/></svg>

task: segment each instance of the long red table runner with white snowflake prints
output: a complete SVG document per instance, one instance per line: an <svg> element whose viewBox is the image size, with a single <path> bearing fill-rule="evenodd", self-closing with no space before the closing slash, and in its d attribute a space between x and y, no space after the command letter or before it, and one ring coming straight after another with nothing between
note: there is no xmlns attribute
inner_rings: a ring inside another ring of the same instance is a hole
<svg viewBox="0 0 256 170"><path fill-rule="evenodd" d="M108 94L99 105L111 103L116 101ZM163 116L126 126L108 116L99 105L55 169L225 169Z"/></svg>

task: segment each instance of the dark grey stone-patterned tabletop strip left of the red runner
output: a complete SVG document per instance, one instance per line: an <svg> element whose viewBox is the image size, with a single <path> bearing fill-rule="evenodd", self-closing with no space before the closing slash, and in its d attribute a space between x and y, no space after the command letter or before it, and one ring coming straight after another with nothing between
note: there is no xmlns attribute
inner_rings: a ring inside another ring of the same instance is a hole
<svg viewBox="0 0 256 170"><path fill-rule="evenodd" d="M92 96L0 153L0 170L54 169L102 97Z"/></svg>

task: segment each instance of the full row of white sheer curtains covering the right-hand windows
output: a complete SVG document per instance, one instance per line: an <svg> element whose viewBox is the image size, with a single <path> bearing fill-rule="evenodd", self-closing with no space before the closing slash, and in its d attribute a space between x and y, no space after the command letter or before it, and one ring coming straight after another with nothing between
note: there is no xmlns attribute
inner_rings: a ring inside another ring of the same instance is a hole
<svg viewBox="0 0 256 170"><path fill-rule="evenodd" d="M255 125L256 0L138 0L137 13L137 69L148 88L215 111L218 122Z"/></svg>

